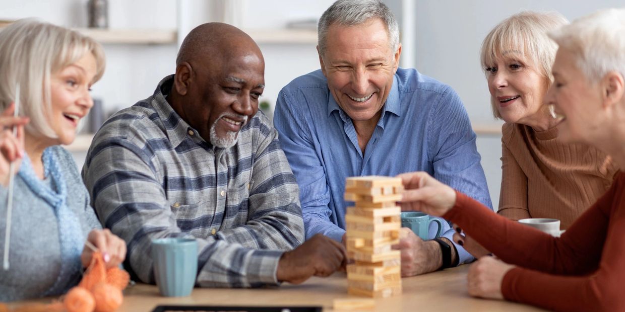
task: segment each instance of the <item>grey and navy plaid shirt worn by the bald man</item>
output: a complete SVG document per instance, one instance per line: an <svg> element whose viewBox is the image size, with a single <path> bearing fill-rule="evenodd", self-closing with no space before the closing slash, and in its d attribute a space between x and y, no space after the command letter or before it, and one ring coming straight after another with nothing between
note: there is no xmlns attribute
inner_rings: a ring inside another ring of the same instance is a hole
<svg viewBox="0 0 625 312"><path fill-rule="evenodd" d="M197 285L277 285L279 258L302 243L304 224L276 130L259 111L234 147L214 147L168 104L172 82L94 137L83 179L100 222L126 241L126 267L146 283L151 240L194 236Z"/></svg>

